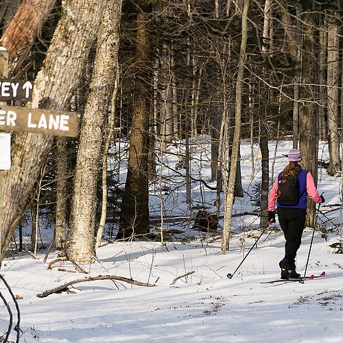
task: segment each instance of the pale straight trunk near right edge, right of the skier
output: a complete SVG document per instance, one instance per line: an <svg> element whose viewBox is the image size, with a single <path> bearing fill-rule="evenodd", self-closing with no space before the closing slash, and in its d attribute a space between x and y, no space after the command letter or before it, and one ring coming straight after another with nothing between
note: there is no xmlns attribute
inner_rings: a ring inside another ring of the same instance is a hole
<svg viewBox="0 0 343 343"><path fill-rule="evenodd" d="M327 38L327 128L330 164L327 172L334 176L341 170L340 134L338 132L338 96L340 86L340 39L338 25L329 23Z"/></svg>

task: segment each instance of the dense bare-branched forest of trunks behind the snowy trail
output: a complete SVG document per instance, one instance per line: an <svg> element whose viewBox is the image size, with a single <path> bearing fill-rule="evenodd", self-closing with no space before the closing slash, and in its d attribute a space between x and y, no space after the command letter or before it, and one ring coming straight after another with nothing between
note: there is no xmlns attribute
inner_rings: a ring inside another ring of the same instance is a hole
<svg viewBox="0 0 343 343"><path fill-rule="evenodd" d="M166 223L176 217L164 213L163 194L178 199L179 189L163 173L170 153L178 157L172 169L185 186L182 215L205 230L219 230L223 253L233 203L245 191L241 139L250 141L252 180L253 145L259 144L255 214L261 228L267 226L274 175L268 141L292 140L315 180L318 163L329 176L342 177L342 5L1 1L8 77L34 80L28 106L80 116L77 139L12 134L12 166L0 171L1 258L9 247L24 249L27 222L32 233L26 250L36 255L40 230L52 227L51 246L75 262L92 262L104 238L163 243ZM192 164L202 163L202 157L192 158L200 137L211 146L209 179L191 173ZM318 157L318 141L327 142L327 160ZM115 161L110 169L109 159ZM125 185L119 180L123 167ZM194 182L215 193L213 202L194 201ZM149 212L152 189L160 192L158 218ZM307 224L316 224L312 203Z"/></svg>

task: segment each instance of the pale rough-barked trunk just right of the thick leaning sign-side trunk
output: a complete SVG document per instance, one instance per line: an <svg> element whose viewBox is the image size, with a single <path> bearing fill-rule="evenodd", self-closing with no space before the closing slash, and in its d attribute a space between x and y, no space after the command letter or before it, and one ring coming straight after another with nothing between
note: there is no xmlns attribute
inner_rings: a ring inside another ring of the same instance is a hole
<svg viewBox="0 0 343 343"><path fill-rule="evenodd" d="M97 52L75 168L71 220L67 236L68 257L91 262L95 254L97 176L106 115L117 73L121 0L110 0L99 27Z"/></svg>

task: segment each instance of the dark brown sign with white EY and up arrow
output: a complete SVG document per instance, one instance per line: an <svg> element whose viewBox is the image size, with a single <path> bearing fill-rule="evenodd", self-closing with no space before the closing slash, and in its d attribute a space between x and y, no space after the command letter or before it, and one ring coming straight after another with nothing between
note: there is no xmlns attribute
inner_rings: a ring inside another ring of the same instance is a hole
<svg viewBox="0 0 343 343"><path fill-rule="evenodd" d="M0 102L32 100L32 82L26 80L0 79Z"/></svg>

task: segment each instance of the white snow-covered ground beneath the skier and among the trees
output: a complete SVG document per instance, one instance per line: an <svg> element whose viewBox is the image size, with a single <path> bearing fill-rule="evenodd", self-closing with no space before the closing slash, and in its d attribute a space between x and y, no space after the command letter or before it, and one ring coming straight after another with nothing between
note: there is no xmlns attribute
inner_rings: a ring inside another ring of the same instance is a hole
<svg viewBox="0 0 343 343"><path fill-rule="evenodd" d="M279 144L275 175L286 165L282 154L287 154L291 144ZM209 180L209 163L204 162L208 148L205 142L194 150L192 175L214 186ZM326 154L321 145L320 156L327 159ZM250 196L261 175L257 147L255 155L256 173L251 180L250 147L242 143L245 196L235 201L235 213L256 209ZM273 156L274 143L270 143L270 166ZM171 176L173 171L166 166L174 168L177 157L163 158L163 176ZM184 170L180 169L180 173ZM228 279L226 274L235 271L261 234L255 215L233 218L230 251L226 255L220 251L220 233L207 236L192 231L192 222L172 223L171 228L182 231L183 239L170 235L165 246L152 241L105 243L97 249L95 263L82 265L89 274L71 273L69 270L75 268L63 261L47 270L49 262L57 257L54 252L46 263L45 252L38 254L39 259L27 253L14 254L3 261L1 272L19 299L21 342L343 342L343 255L334 254L330 247L340 237L335 226L340 224L337 204L342 203L342 185L340 178L327 176L324 169L318 169L318 178L318 190L325 192L327 201L320 208L321 228L314 235L307 275L325 271L324 278L304 284L262 283L279 279L284 239L276 222L265 231L233 279ZM165 185L163 213L189 215L181 178L173 180ZM158 216L159 189L152 185L154 190L151 210ZM212 211L215 192L211 194L200 182L193 182L192 199L193 206L204 205ZM296 264L300 273L305 270L312 233L310 228L305 230L298 250ZM189 272L193 273L176 280ZM91 281L69 287L75 294L37 297L68 281L100 274L132 278L154 287ZM10 303L15 324L14 303L3 283L1 294ZM0 318L2 334L9 322L5 306L1 307ZM10 340L15 341L15 331Z"/></svg>

